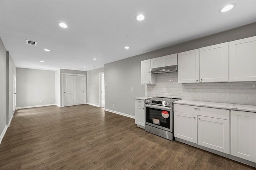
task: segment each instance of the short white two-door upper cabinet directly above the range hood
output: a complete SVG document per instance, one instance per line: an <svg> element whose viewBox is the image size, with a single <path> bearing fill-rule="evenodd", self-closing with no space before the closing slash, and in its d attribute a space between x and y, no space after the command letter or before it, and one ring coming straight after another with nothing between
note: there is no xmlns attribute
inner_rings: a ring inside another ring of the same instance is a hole
<svg viewBox="0 0 256 170"><path fill-rule="evenodd" d="M177 53L151 59L151 68L177 65Z"/></svg>

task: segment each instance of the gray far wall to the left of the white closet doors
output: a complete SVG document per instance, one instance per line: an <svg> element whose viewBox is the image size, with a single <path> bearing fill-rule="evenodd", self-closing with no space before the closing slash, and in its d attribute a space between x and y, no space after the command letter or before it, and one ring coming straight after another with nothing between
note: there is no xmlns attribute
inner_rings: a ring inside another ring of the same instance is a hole
<svg viewBox="0 0 256 170"><path fill-rule="evenodd" d="M54 71L24 68L16 71L17 107L55 104Z"/></svg>

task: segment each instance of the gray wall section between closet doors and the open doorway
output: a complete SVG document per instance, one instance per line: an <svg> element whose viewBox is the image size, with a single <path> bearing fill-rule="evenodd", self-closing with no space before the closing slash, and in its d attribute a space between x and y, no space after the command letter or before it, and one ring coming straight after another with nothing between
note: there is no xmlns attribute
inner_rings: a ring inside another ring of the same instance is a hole
<svg viewBox="0 0 256 170"><path fill-rule="evenodd" d="M87 71L87 103L100 105L100 73L102 72L104 68Z"/></svg>

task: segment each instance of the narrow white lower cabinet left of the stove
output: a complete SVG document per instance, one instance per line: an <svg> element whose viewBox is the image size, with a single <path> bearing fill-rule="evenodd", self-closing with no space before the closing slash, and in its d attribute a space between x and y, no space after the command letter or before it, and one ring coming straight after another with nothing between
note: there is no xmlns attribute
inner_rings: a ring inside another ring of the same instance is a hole
<svg viewBox="0 0 256 170"><path fill-rule="evenodd" d="M135 99L135 124L145 127L144 100Z"/></svg>

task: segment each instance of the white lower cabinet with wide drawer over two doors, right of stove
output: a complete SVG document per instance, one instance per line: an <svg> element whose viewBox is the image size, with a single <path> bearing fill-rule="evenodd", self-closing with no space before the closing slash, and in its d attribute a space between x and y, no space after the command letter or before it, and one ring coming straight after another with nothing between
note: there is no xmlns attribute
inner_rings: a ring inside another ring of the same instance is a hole
<svg viewBox="0 0 256 170"><path fill-rule="evenodd" d="M174 136L230 154L229 110L174 104Z"/></svg>

